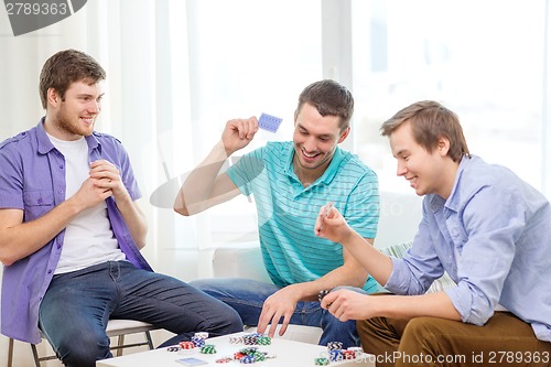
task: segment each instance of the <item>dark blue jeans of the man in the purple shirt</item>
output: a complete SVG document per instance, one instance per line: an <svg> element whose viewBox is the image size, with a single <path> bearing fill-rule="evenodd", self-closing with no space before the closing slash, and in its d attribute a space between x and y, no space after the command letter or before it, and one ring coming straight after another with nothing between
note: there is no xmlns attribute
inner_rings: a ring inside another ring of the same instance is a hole
<svg viewBox="0 0 551 367"><path fill-rule="evenodd" d="M54 276L40 306L42 332L66 366L96 366L111 357L109 319L148 322L177 334L163 345L242 331L237 312L177 279L109 261Z"/></svg>

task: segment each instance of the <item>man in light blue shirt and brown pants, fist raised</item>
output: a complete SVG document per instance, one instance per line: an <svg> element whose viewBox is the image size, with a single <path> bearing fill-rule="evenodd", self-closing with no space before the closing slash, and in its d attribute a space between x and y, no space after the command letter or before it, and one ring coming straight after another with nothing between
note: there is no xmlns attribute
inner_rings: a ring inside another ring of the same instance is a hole
<svg viewBox="0 0 551 367"><path fill-rule="evenodd" d="M456 115L434 101L381 127L398 175L425 195L403 259L363 246L336 209L318 236L341 242L390 292L336 291L322 302L358 322L378 366L530 365L551 359L551 206L504 166L469 154ZM457 287L425 294L444 271Z"/></svg>

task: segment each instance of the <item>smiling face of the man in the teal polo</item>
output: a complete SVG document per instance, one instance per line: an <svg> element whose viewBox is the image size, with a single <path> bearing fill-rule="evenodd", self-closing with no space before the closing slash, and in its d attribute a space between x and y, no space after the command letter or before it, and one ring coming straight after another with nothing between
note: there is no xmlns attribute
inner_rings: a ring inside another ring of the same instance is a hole
<svg viewBox="0 0 551 367"><path fill-rule="evenodd" d="M314 106L304 104L296 115L293 133L293 168L299 179L306 179L310 183L318 179L349 130L341 131L337 116L324 117Z"/></svg>

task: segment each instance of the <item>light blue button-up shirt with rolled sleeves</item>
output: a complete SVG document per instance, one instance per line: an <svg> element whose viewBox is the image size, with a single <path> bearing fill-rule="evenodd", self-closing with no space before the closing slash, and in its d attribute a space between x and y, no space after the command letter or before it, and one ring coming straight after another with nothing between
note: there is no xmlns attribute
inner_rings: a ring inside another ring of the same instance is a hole
<svg viewBox="0 0 551 367"><path fill-rule="evenodd" d="M508 169L463 158L444 201L426 195L423 219L385 285L421 294L445 271L463 322L484 325L500 304L551 341L551 207Z"/></svg>

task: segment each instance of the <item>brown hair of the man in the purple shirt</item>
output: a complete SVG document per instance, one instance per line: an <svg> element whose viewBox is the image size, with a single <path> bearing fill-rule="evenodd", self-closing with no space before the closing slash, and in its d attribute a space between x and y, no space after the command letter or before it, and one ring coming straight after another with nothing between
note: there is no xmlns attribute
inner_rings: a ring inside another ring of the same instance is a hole
<svg viewBox="0 0 551 367"><path fill-rule="evenodd" d="M104 80L104 68L91 56L76 50L60 51L51 56L40 73L40 99L47 106L47 89L54 88L62 100L71 84L85 80L89 85Z"/></svg>

